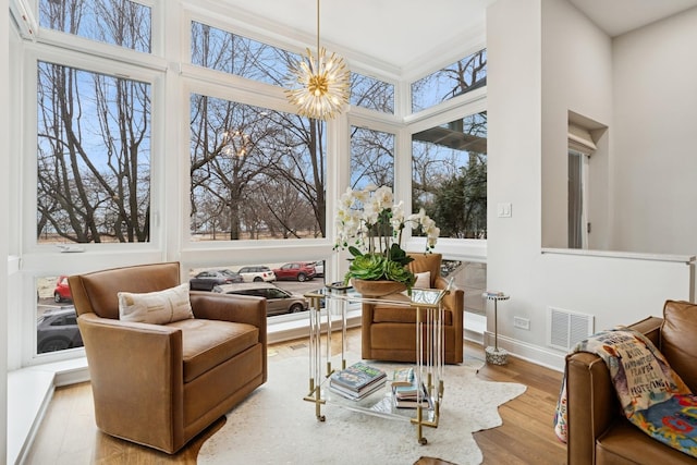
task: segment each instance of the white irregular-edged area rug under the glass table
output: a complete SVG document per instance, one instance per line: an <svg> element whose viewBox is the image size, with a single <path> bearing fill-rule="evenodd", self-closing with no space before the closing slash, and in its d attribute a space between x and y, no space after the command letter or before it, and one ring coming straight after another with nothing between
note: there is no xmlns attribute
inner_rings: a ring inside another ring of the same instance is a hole
<svg viewBox="0 0 697 465"><path fill-rule="evenodd" d="M388 374L395 366L370 364ZM440 424L424 428L428 443L420 445L414 425L338 405L323 405L327 420L318 421L315 404L303 401L308 389L307 358L270 358L267 383L227 415L225 425L201 446L198 463L411 465L429 456L458 465L480 464L481 451L472 433L500 426L498 406L526 389L478 379L481 365L466 360L445 367Z"/></svg>

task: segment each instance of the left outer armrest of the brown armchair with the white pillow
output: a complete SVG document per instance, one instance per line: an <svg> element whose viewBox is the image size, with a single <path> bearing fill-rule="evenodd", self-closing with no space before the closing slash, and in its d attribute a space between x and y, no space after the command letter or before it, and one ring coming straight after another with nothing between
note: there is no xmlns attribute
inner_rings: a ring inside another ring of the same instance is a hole
<svg viewBox="0 0 697 465"><path fill-rule="evenodd" d="M179 426L175 430L183 430L182 331L93 313L81 315L77 325L87 354L97 426L123 437L130 437L133 425L166 428L174 424Z"/></svg>

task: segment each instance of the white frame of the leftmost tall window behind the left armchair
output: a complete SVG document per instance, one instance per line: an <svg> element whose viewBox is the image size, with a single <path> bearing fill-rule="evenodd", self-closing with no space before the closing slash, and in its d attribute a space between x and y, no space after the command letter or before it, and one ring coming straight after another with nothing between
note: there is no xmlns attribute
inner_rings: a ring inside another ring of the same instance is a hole
<svg viewBox="0 0 697 465"><path fill-rule="evenodd" d="M15 122L23 127L20 139L21 160L21 196L22 205L12 205L22 223L22 232L17 236L17 247L21 250L21 274L23 279L22 295L17 297L23 310L16 316L21 327L30 331L23 331L19 362L22 366L40 365L45 363L66 360L84 356L84 348L65 350L51 353L37 353L36 331L36 296L37 280L42 277L71 274L96 268L109 268L134 265L148 261L162 261L162 249L166 244L166 228L160 221L163 215L166 193L161 188L162 180L167 179L167 160L164 160L163 144L163 88L164 68L150 63L143 68L138 64L124 63L113 57L95 57L76 50L44 42L23 44L22 76L22 120ZM137 53L137 52L134 52ZM75 244L84 253L64 254L53 244L39 244L36 237L37 218L37 129L38 129L38 96L37 78L39 62L57 63L76 68L86 72L107 74L110 76L132 78L150 85L150 238L145 243L89 243ZM30 308L30 311L29 311Z"/></svg>

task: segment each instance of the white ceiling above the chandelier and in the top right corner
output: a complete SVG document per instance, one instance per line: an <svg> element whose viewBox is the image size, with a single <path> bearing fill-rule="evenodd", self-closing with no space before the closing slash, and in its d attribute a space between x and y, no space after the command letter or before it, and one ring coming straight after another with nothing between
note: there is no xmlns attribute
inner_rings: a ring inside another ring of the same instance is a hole
<svg viewBox="0 0 697 465"><path fill-rule="evenodd" d="M223 0L299 35L316 35L316 0ZM496 0L351 0L320 3L322 42L395 69L447 50L467 30L482 30ZM568 0L608 35L616 36L697 5L697 0ZM329 48L329 47L328 47Z"/></svg>

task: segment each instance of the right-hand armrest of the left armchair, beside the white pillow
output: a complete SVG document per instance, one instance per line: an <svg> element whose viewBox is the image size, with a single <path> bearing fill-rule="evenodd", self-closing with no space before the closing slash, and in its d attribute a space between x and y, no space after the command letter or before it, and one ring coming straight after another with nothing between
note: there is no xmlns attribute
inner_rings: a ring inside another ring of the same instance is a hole
<svg viewBox="0 0 697 465"><path fill-rule="evenodd" d="M259 342L266 346L266 298L205 291L191 291L189 298L196 318L253 325L259 329Z"/></svg>

